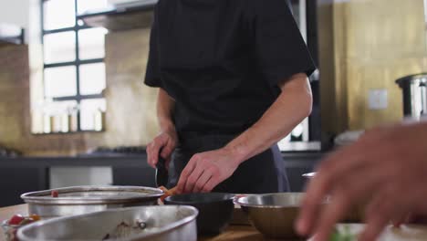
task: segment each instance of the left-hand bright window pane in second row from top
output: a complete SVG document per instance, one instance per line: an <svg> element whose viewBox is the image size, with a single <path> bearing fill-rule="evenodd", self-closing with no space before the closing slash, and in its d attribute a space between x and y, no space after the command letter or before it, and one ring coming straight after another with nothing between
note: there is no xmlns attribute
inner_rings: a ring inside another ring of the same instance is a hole
<svg viewBox="0 0 427 241"><path fill-rule="evenodd" d="M75 32L45 35L43 40L46 64L76 60Z"/></svg>

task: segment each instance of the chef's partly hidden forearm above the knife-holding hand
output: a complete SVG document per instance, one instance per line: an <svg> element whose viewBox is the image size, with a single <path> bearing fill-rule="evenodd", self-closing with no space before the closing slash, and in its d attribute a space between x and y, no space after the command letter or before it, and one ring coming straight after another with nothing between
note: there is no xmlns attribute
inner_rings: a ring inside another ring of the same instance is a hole
<svg viewBox="0 0 427 241"><path fill-rule="evenodd" d="M175 129L172 115L175 108L175 100L173 100L164 89L159 89L157 97L157 118L161 131L169 131Z"/></svg>

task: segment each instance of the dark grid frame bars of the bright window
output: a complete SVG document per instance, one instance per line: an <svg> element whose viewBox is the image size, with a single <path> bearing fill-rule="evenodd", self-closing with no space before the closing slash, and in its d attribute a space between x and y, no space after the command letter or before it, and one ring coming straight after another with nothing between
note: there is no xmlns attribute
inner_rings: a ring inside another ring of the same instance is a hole
<svg viewBox="0 0 427 241"><path fill-rule="evenodd" d="M98 64L98 63L104 63L105 64L105 56L104 58L89 58L89 59L80 59L79 58L79 41L78 41L78 32L80 30L94 28L93 26L87 26L86 24L83 24L82 26L78 25L78 0L70 0L74 1L74 26L70 27L62 27L62 28L56 28L56 29L50 29L45 30L45 2L49 0L41 0L40 1L40 11L41 11L41 43L43 46L43 53L44 53L44 37L50 34L57 34L57 33L64 33L64 32L74 32L75 33L75 54L76 58L73 61L68 62L56 62L56 63L45 63L45 58L43 58L43 84L45 85L45 69L47 68L57 68L57 67L69 67L74 66L76 67L76 95L72 96L64 96L64 97L54 97L52 100L54 102L58 101L66 101L66 100L75 100L77 101L78 107L80 106L80 103L82 100L92 100L92 99L103 99L105 100L102 93L99 94L91 94L91 95L82 95L80 94L80 66L87 65L87 64ZM44 55L44 54L43 54ZM107 80L107 79L106 79ZM46 100L46 90L43 89L43 97ZM68 132L86 132L81 129L81 120L80 120L80 110L78 108L77 110L77 131L68 131ZM91 130L92 131L92 130ZM93 130L94 131L94 130ZM102 130L103 131L103 130ZM99 131L96 131L99 132Z"/></svg>

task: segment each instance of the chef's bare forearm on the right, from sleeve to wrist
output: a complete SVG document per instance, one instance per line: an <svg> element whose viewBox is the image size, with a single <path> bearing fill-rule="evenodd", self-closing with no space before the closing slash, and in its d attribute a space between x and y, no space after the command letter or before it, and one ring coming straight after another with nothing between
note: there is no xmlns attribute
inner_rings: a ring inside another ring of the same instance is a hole
<svg viewBox="0 0 427 241"><path fill-rule="evenodd" d="M297 74L280 87L282 93L263 117L225 146L233 152L236 162L264 152L310 114L312 95L306 74Z"/></svg>

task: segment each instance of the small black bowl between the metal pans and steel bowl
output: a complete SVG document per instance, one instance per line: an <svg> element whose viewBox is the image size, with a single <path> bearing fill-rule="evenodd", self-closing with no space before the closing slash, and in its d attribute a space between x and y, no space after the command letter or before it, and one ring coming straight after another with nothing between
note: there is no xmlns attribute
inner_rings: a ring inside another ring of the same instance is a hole
<svg viewBox="0 0 427 241"><path fill-rule="evenodd" d="M165 204L192 205L199 210L197 231L200 235L217 235L233 217L233 194L178 194L167 197Z"/></svg>

